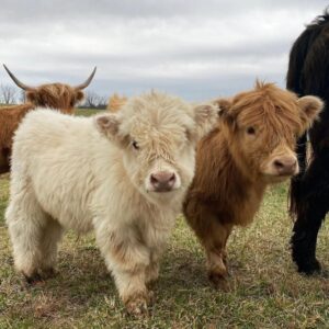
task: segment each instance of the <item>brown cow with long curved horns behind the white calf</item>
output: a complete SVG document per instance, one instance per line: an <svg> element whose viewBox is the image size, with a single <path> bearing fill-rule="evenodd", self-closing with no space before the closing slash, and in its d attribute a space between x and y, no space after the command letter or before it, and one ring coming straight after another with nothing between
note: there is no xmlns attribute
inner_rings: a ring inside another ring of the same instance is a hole
<svg viewBox="0 0 329 329"><path fill-rule="evenodd" d="M95 73L94 68L90 77L76 87L64 83L30 87L22 83L4 65L3 67L12 80L25 90L26 104L0 109L0 174L10 169L12 137L23 116L37 106L52 107L68 114L73 113L76 103L83 99L82 89L89 86Z"/></svg>

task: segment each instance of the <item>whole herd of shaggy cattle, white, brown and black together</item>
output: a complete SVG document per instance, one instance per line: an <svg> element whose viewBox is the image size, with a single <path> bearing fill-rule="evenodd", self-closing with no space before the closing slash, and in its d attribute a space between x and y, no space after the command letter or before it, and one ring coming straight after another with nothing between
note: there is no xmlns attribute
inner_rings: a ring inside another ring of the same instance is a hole
<svg viewBox="0 0 329 329"><path fill-rule="evenodd" d="M93 117L71 114L95 69L76 87L36 88L4 66L27 100L0 110L16 270L31 284L54 275L63 232L94 230L126 309L145 314L148 285L183 212L204 247L209 281L226 288L234 226L252 222L269 184L292 178L293 260L299 272L319 271L317 234L329 211L328 29L325 13L295 42L287 90L257 81L200 104L157 91L115 94Z"/></svg>

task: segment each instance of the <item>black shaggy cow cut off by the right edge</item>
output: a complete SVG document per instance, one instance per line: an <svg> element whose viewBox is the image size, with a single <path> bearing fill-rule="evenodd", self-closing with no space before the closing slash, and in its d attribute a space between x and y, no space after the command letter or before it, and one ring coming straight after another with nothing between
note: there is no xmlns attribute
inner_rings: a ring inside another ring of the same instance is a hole
<svg viewBox="0 0 329 329"><path fill-rule="evenodd" d="M292 179L291 214L296 217L292 237L293 260L298 271L320 270L316 259L317 236L329 211L329 12L318 16L294 43L287 89L320 97L327 104L320 121L309 129L313 157L306 163L306 135L297 145L300 172Z"/></svg>

